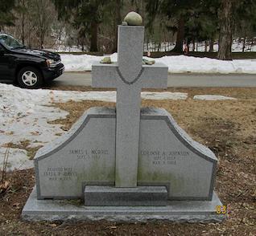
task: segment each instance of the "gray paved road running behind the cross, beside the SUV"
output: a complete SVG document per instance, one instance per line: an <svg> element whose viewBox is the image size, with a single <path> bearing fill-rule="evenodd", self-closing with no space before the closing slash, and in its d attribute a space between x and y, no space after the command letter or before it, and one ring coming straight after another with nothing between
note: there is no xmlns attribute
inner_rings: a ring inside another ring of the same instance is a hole
<svg viewBox="0 0 256 236"><path fill-rule="evenodd" d="M90 72L64 72L53 86L91 86ZM256 87L256 75L169 74L168 87Z"/></svg>

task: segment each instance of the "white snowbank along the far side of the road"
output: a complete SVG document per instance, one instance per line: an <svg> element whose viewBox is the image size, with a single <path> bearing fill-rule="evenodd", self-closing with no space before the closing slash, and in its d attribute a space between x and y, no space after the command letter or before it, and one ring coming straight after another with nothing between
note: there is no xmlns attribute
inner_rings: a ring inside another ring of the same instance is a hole
<svg viewBox="0 0 256 236"><path fill-rule="evenodd" d="M110 55L117 62L118 54ZM99 62L104 56L96 55L61 55L65 71L91 71L92 64ZM150 59L145 57L145 59ZM169 55L155 59L156 63L164 63L169 72L173 73L248 73L256 74L256 59L235 59L222 61L218 59L198 58L186 55Z"/></svg>

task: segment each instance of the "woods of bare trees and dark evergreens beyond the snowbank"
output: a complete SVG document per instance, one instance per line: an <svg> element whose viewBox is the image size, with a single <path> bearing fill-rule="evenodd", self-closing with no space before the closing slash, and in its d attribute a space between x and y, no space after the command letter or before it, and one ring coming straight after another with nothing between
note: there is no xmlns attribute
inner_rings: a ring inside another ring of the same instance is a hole
<svg viewBox="0 0 256 236"><path fill-rule="evenodd" d="M0 0L0 31L27 47L117 51L117 25L134 10L146 28L144 51L183 53L184 44L232 59L233 39L256 43L255 0ZM61 46L61 47L60 47Z"/></svg>

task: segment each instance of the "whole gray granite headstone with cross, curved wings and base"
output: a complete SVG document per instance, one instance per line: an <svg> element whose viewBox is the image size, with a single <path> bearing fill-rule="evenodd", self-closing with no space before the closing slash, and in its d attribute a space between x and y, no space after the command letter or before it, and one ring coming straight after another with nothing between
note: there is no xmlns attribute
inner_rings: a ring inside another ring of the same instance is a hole
<svg viewBox="0 0 256 236"><path fill-rule="evenodd" d="M92 71L93 87L117 89L116 108L90 108L69 132L39 150L36 188L23 218L45 219L47 212L54 219L69 213L111 220L118 212L127 221L222 219L214 206L221 204L213 193L214 153L192 140L166 110L140 108L142 88L167 87L165 65L142 65L143 38L143 26L118 26L118 63L95 63ZM72 198L85 205L58 210L68 203L54 199Z"/></svg>

